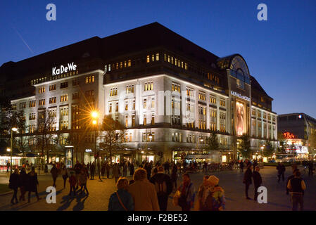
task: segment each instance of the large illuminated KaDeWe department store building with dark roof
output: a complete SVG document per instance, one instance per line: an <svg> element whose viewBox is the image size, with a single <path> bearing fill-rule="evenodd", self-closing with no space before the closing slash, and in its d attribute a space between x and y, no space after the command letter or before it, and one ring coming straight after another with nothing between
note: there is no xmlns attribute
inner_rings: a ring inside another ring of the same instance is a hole
<svg viewBox="0 0 316 225"><path fill-rule="evenodd" d="M251 137L253 150L268 140L277 143L272 98L244 58L215 56L158 23L4 63L0 72L13 109L25 112L30 150L38 151L32 139L49 112L49 134L59 140L52 146L62 153L71 137L79 143L75 160L93 160L98 140L92 110L99 111L99 124L109 115L127 129L115 161L225 162L239 157L243 134ZM206 149L213 133L218 150Z"/></svg>

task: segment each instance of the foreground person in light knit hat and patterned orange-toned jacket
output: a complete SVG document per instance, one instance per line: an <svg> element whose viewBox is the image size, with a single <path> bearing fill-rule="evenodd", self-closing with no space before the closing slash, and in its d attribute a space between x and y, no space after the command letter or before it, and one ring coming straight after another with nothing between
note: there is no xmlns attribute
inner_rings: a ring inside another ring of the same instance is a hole
<svg viewBox="0 0 316 225"><path fill-rule="evenodd" d="M210 186L206 201L203 205L203 210L206 211L222 211L225 210L225 192L222 187L218 185L220 179L216 176L209 176L206 183Z"/></svg>

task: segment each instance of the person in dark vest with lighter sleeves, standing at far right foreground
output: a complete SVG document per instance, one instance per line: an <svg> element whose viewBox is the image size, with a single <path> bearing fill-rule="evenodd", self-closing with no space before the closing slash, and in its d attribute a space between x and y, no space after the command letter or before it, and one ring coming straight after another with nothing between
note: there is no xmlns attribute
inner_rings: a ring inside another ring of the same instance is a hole
<svg viewBox="0 0 316 225"><path fill-rule="evenodd" d="M289 192L291 194L291 203L292 210L297 211L298 204L300 205L300 210L303 211L304 200L303 195L306 189L305 182L301 179L301 172L296 171L294 177L289 180L289 184L287 185L289 188Z"/></svg>

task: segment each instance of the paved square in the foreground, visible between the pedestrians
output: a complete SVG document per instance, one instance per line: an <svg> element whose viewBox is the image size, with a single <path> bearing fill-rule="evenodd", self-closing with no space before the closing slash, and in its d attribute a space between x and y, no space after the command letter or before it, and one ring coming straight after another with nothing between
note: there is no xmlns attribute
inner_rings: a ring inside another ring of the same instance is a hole
<svg viewBox="0 0 316 225"><path fill-rule="evenodd" d="M291 168L286 168L285 179L291 174ZM272 211L289 211L291 210L291 203L289 195L286 195L285 181L277 182L277 170L275 167L265 167L260 170L263 176L263 186L267 188L267 204L259 204L254 200L246 200L244 194L244 184L242 179L244 174L239 171L225 171L215 172L215 176L220 179L220 186L225 189L225 195L227 198L226 210L229 211L260 211L260 210L272 210ZM194 183L196 190L201 184L203 179L203 173L190 174L191 180ZM132 179L131 176L128 177ZM303 176L307 186L305 191L305 210L316 210L316 178ZM181 176L177 181L178 186L182 180ZM66 188L63 189L63 179L58 176L57 179L57 200L56 204L46 203L46 187L52 185L51 176L41 175L39 176L39 195L41 200L37 202L34 194L32 195L31 203L27 203L27 200L15 205L11 205L12 195L0 196L0 210L26 210L26 211L63 211L63 210L108 210L108 199L111 193L115 191L114 179L103 179L99 181L97 177L94 180L89 180L87 187L89 189L89 196L77 195L77 197L69 197L69 183L67 181ZM249 194L253 198L253 185L249 189ZM20 194L18 194L19 196ZM179 211L179 207L172 205L172 198L170 195L168 202L168 210Z"/></svg>

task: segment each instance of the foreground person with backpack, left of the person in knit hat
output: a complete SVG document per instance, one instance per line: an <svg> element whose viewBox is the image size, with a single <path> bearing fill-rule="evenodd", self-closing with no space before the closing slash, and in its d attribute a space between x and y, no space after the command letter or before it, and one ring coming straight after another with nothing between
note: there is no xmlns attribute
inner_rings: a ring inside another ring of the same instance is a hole
<svg viewBox="0 0 316 225"><path fill-rule="evenodd" d="M189 174L183 174L182 180L183 183L177 189L178 191L180 191L178 205L182 208L182 211L190 211L195 198L194 186L191 183Z"/></svg>

